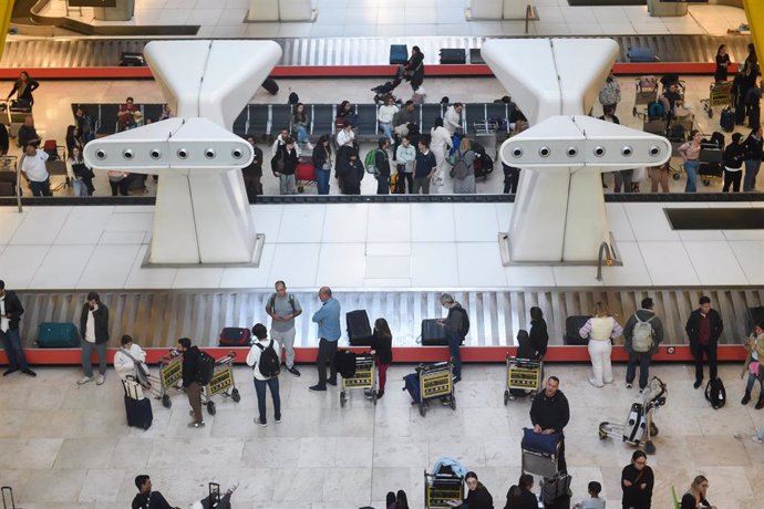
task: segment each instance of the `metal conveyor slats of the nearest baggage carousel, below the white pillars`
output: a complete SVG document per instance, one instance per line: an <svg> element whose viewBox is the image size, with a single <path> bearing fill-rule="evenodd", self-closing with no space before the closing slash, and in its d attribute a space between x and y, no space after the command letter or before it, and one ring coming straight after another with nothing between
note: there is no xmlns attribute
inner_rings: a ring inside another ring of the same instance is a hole
<svg viewBox="0 0 764 509"><path fill-rule="evenodd" d="M593 270L593 268L592 268ZM329 282L330 283L330 282ZM96 289L97 290L97 289ZM444 289L447 291L447 289ZM18 291L25 313L22 336L33 345L41 322L73 322L79 326L80 312L87 291ZM269 324L265 307L269 290L103 290L101 300L110 309L111 337L131 334L144 346L172 346L178 337L188 336L202 345L217 344L224 326L251 328ZM365 309L370 320L383 316L390 323L399 346L415 346L421 320L441 318L443 308L436 291L335 291L342 313ZM678 289L678 288L600 288L600 289L506 289L465 290L454 295L471 315L465 345L514 345L517 332L529 329L528 313L538 305L549 330L549 343L562 344L565 319L589 314L596 301L605 301L623 324L651 297L663 321L665 341L686 342L684 324L698 307L701 294L711 297L713 307L724 320L721 343L740 343L746 335L747 308L764 305L764 289ZM319 308L317 291L296 292L303 313L297 320L296 345L313 346L314 326L310 316ZM344 316L342 316L344 329ZM343 334L344 336L344 334Z"/></svg>

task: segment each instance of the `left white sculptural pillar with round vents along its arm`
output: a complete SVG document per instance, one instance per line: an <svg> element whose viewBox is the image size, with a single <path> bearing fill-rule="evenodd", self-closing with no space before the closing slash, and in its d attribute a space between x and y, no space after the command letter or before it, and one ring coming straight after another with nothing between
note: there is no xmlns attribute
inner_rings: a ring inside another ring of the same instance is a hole
<svg viewBox="0 0 764 509"><path fill-rule="evenodd" d="M251 263L256 232L230 129L281 58L272 41L154 41L144 54L177 117L96 139L95 169L161 175L152 264Z"/></svg>

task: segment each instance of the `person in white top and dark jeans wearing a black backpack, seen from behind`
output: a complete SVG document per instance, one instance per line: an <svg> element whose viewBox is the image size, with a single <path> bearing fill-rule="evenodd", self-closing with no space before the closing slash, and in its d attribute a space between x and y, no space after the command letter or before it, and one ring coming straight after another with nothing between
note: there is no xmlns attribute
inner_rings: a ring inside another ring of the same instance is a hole
<svg viewBox="0 0 764 509"><path fill-rule="evenodd" d="M247 365L252 368L255 380L255 393L257 393L257 409L259 413L255 423L262 427L268 426L266 418L266 387L270 388L273 398L273 417L276 424L281 422L281 397L279 395L279 373L281 371L281 345L271 337L268 340L268 330L261 323L252 328L256 341L247 354Z"/></svg>

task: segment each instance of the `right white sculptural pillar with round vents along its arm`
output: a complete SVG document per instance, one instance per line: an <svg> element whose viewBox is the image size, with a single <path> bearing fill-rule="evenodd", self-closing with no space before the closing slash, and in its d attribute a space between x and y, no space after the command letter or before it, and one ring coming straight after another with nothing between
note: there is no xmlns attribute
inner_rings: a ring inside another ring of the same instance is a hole
<svg viewBox="0 0 764 509"><path fill-rule="evenodd" d="M524 169L508 233L514 263L596 262L600 245L610 243L600 174L652 166L671 154L659 136L585 116L618 52L611 39L483 45L483 59L531 125L500 148L504 163Z"/></svg>

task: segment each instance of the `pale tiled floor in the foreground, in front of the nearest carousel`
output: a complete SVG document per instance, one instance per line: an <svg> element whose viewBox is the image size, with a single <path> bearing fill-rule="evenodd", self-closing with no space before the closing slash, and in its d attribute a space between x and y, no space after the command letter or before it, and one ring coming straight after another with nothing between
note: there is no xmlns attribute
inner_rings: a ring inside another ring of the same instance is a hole
<svg viewBox="0 0 764 509"><path fill-rule="evenodd" d="M600 440L601 420L620 422L638 398L622 384L624 366L615 367L616 383L595 388L586 382L587 365L549 365L570 401L566 428L568 470L574 501L590 480L602 484L608 507L620 507L620 468L633 449ZM314 367L303 376L281 375L282 422L252 423L256 401L250 373L235 370L241 402L217 399L207 427L188 429L185 396L172 393L172 409L153 402L154 424L147 432L127 428L123 392L113 371L106 384L78 387L80 370L41 368L35 380L22 375L0 385L0 449L8 458L0 469L24 509L123 509L135 495L133 479L152 477L154 489L172 505L186 507L206 494L208 481L240 487L237 509L350 509L383 507L386 491L403 489L411 507L423 507L423 470L451 456L475 470L503 507L520 474L522 427L529 425L526 401L504 406L505 367L471 365L457 385L456 411L433 405L421 417L401 391L412 366L389 371L385 396L376 406L360 391L340 408L338 389L308 392ZM665 407L655 416L658 451L650 456L657 482L652 507L671 507L671 486L683 492L692 478L710 479L708 497L724 509L756 509L756 487L764 468L764 448L751 436L764 413L740 405L737 365L721 367L729 403L713 411L692 388L692 368L658 365L651 372L669 386ZM754 395L754 401L755 401Z"/></svg>

